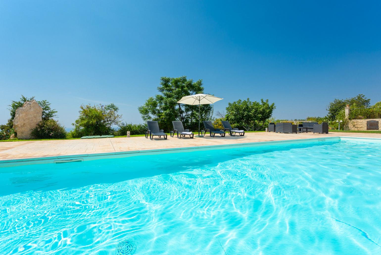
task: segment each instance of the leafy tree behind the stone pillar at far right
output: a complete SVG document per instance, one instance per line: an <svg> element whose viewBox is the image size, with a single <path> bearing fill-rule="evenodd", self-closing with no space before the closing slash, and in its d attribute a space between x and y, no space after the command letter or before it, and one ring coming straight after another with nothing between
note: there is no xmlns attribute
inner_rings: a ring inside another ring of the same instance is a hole
<svg viewBox="0 0 381 255"><path fill-rule="evenodd" d="M370 99L365 97L363 94L359 94L357 96L354 96L352 98L347 99L335 99L327 106L327 119L333 121L336 120L336 117L338 113L346 107L346 105L349 104L353 106L354 104L356 107L369 107L370 106Z"/></svg>

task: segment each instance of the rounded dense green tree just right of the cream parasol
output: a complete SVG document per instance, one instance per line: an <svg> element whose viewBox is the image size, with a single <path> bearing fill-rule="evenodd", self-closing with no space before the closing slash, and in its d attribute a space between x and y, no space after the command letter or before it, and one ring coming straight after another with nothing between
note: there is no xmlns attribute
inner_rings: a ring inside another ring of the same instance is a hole
<svg viewBox="0 0 381 255"><path fill-rule="evenodd" d="M271 117L275 104L269 104L269 99L261 102L251 102L250 99L228 103L226 107L226 120L234 126L245 128L245 130L261 130L266 121Z"/></svg>

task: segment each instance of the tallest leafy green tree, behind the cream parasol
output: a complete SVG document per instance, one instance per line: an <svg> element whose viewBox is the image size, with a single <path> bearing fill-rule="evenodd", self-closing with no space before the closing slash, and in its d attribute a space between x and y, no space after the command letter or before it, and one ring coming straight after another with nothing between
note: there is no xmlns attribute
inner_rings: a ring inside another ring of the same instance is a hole
<svg viewBox="0 0 381 255"><path fill-rule="evenodd" d="M199 106L179 104L183 96L204 93L202 80L194 82L186 76L170 78L162 77L157 88L160 94L150 97L138 110L144 121L157 120L160 128L168 132L173 128L173 120L181 120L185 128L197 130L199 128ZM200 116L202 120L211 119L213 106L202 104Z"/></svg>

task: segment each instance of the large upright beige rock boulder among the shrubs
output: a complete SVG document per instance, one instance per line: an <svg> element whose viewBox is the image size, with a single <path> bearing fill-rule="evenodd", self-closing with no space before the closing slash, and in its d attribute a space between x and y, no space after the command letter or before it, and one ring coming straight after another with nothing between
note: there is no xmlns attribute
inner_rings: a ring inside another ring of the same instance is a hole
<svg viewBox="0 0 381 255"><path fill-rule="evenodd" d="M42 107L36 102L26 101L22 107L17 108L13 119L14 132L19 139L32 139L30 132L42 120Z"/></svg>

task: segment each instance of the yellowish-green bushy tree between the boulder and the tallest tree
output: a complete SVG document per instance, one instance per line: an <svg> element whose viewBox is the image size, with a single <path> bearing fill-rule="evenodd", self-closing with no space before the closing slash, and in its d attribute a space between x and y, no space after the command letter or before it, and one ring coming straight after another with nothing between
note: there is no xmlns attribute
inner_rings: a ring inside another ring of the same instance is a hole
<svg viewBox="0 0 381 255"><path fill-rule="evenodd" d="M122 115L115 104L81 105L79 117L75 120L74 130L70 135L74 138L87 135L110 135L114 132L112 125L118 125Z"/></svg>

